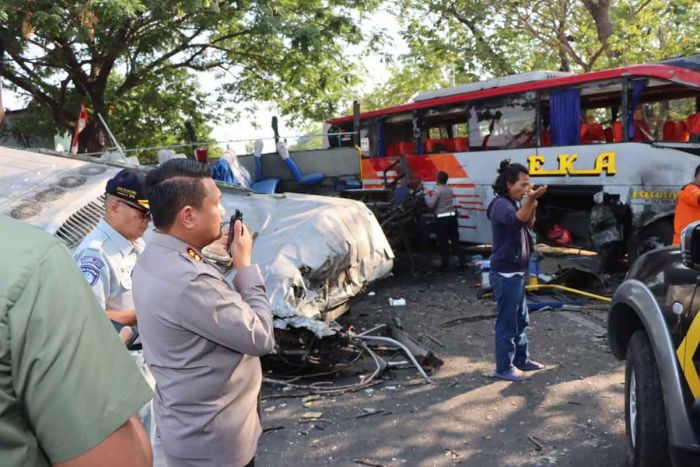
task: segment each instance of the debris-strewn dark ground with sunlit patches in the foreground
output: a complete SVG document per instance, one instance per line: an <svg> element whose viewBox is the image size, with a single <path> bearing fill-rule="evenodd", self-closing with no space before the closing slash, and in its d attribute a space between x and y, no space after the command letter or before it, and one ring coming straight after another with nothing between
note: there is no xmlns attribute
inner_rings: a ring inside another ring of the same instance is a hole
<svg viewBox="0 0 700 467"><path fill-rule="evenodd" d="M475 281L469 271L406 274L357 298L342 324L359 332L398 316L444 360L433 384L414 369L393 369L372 388L306 402L264 385L263 424L271 430L256 465L624 465L624 364L607 349L605 313L531 313L531 357L547 369L522 383L498 381L489 377L493 319L441 325L495 312L493 302L477 299ZM399 297L406 306L388 306ZM334 381L357 381L370 363ZM311 415L318 420L304 418Z"/></svg>

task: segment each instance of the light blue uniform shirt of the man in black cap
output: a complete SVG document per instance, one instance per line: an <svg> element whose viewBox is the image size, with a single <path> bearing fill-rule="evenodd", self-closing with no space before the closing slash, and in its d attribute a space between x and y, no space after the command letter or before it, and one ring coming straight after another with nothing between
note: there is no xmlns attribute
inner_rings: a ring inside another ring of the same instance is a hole
<svg viewBox="0 0 700 467"><path fill-rule="evenodd" d="M76 248L73 257L103 310L134 309L131 273L143 249L143 239L130 242L104 219Z"/></svg>

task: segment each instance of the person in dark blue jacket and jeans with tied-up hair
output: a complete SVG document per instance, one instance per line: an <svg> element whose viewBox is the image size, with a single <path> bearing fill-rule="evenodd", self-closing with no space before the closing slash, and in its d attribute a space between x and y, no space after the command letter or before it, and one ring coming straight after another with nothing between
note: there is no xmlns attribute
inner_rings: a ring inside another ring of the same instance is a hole
<svg viewBox="0 0 700 467"><path fill-rule="evenodd" d="M522 381L523 372L544 368L530 360L528 352L525 274L530 256L527 229L535 225L537 200L547 186L535 189L527 169L506 159L501 161L493 190L496 198L489 204L487 216L493 233L489 280L498 308L494 376Z"/></svg>

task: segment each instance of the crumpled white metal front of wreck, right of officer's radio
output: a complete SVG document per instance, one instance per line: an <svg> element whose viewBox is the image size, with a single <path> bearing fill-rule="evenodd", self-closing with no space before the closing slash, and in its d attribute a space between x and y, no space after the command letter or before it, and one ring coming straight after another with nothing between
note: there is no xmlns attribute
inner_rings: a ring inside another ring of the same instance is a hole
<svg viewBox="0 0 700 467"><path fill-rule="evenodd" d="M240 209L256 232L253 261L261 265L275 316L323 319L391 272L391 247L363 203L224 189L222 204L229 214Z"/></svg>

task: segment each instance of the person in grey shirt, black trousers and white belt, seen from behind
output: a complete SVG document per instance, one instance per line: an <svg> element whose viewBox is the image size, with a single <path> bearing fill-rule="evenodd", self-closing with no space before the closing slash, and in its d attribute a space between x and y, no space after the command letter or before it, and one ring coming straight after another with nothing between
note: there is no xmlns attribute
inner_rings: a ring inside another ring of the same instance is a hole
<svg viewBox="0 0 700 467"><path fill-rule="evenodd" d="M425 195L425 204L435 213L438 247L442 259L441 271L447 271L450 267L450 247L457 254L460 267L465 265L464 250L459 244L459 226L457 224L457 210L454 205L454 192L451 187L447 186L447 180L446 172L438 172L435 190L431 190Z"/></svg>

